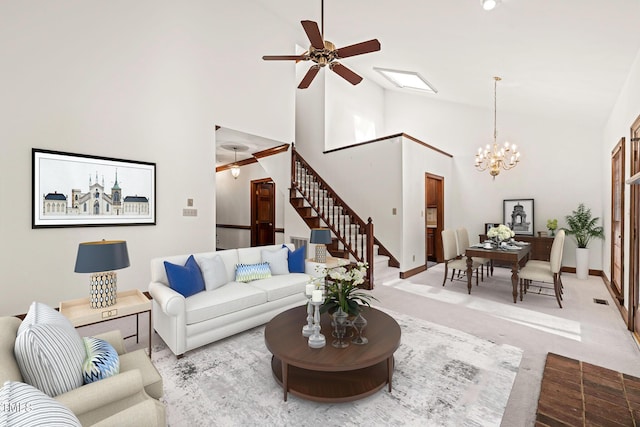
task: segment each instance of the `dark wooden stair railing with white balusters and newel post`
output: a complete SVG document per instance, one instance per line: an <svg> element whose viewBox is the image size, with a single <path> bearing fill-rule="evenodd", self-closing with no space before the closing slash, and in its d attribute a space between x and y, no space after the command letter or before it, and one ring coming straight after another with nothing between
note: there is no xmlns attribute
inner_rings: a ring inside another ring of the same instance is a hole
<svg viewBox="0 0 640 427"><path fill-rule="evenodd" d="M374 235L371 218L364 222L298 154L295 147L291 151L291 184L333 231L345 250L356 261L369 264L365 283L372 289Z"/></svg>

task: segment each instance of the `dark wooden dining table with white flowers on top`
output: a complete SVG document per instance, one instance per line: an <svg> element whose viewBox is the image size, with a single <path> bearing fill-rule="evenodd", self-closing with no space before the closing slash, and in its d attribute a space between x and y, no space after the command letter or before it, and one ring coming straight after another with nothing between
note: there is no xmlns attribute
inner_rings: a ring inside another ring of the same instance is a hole
<svg viewBox="0 0 640 427"><path fill-rule="evenodd" d="M471 294L471 275L473 274L473 257L487 258L492 260L491 273L493 274L493 261L504 261L511 264L511 284L513 285L513 302L518 299L518 270L529 258L530 245L524 242L510 243L505 245L492 245L488 247L483 244L472 245L465 249L467 257L467 289ZM522 295L520 295L522 301Z"/></svg>

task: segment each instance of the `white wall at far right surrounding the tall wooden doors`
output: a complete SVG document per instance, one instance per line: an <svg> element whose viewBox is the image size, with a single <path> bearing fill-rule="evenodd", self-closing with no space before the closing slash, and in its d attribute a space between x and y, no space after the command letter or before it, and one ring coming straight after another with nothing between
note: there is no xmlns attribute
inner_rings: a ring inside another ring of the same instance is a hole
<svg viewBox="0 0 640 427"><path fill-rule="evenodd" d="M626 165L625 165L625 179L631 175L631 147L630 141L630 129L633 122L640 115L640 52L636 56L636 59L631 67L629 77L620 91L618 100L611 111L611 115L604 128L602 135L602 151L600 152L603 173L600 177L602 193L602 205L605 212L604 226L605 226L605 241L603 243L603 255L602 264L603 271L606 276L611 278L611 151L618 144L620 138L625 138L626 144ZM627 291L625 294L625 307L629 309L629 266L631 253L631 203L630 203L631 189L627 185L625 186L625 248L624 248L624 288Z"/></svg>

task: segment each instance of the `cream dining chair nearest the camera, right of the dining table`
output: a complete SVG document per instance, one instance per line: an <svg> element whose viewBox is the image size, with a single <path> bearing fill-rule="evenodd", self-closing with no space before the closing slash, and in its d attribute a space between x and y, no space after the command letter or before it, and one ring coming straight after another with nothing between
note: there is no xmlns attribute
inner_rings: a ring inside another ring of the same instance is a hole
<svg viewBox="0 0 640 427"><path fill-rule="evenodd" d="M549 265L543 263L533 263L528 261L524 267L518 272L520 278L520 298L526 294L526 289L530 282L551 283L553 291L558 301L558 305L562 308L562 282L560 279L560 270L562 267L562 253L564 247L564 230L558 232L558 236L553 239L551 245L551 256Z"/></svg>

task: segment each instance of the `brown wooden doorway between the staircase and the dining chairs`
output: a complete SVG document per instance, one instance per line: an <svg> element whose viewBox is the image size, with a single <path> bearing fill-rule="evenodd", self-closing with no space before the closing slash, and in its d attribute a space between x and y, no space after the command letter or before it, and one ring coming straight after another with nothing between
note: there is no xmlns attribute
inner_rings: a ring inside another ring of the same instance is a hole
<svg viewBox="0 0 640 427"><path fill-rule="evenodd" d="M444 178L425 174L425 259L444 262L442 230L444 228Z"/></svg>

